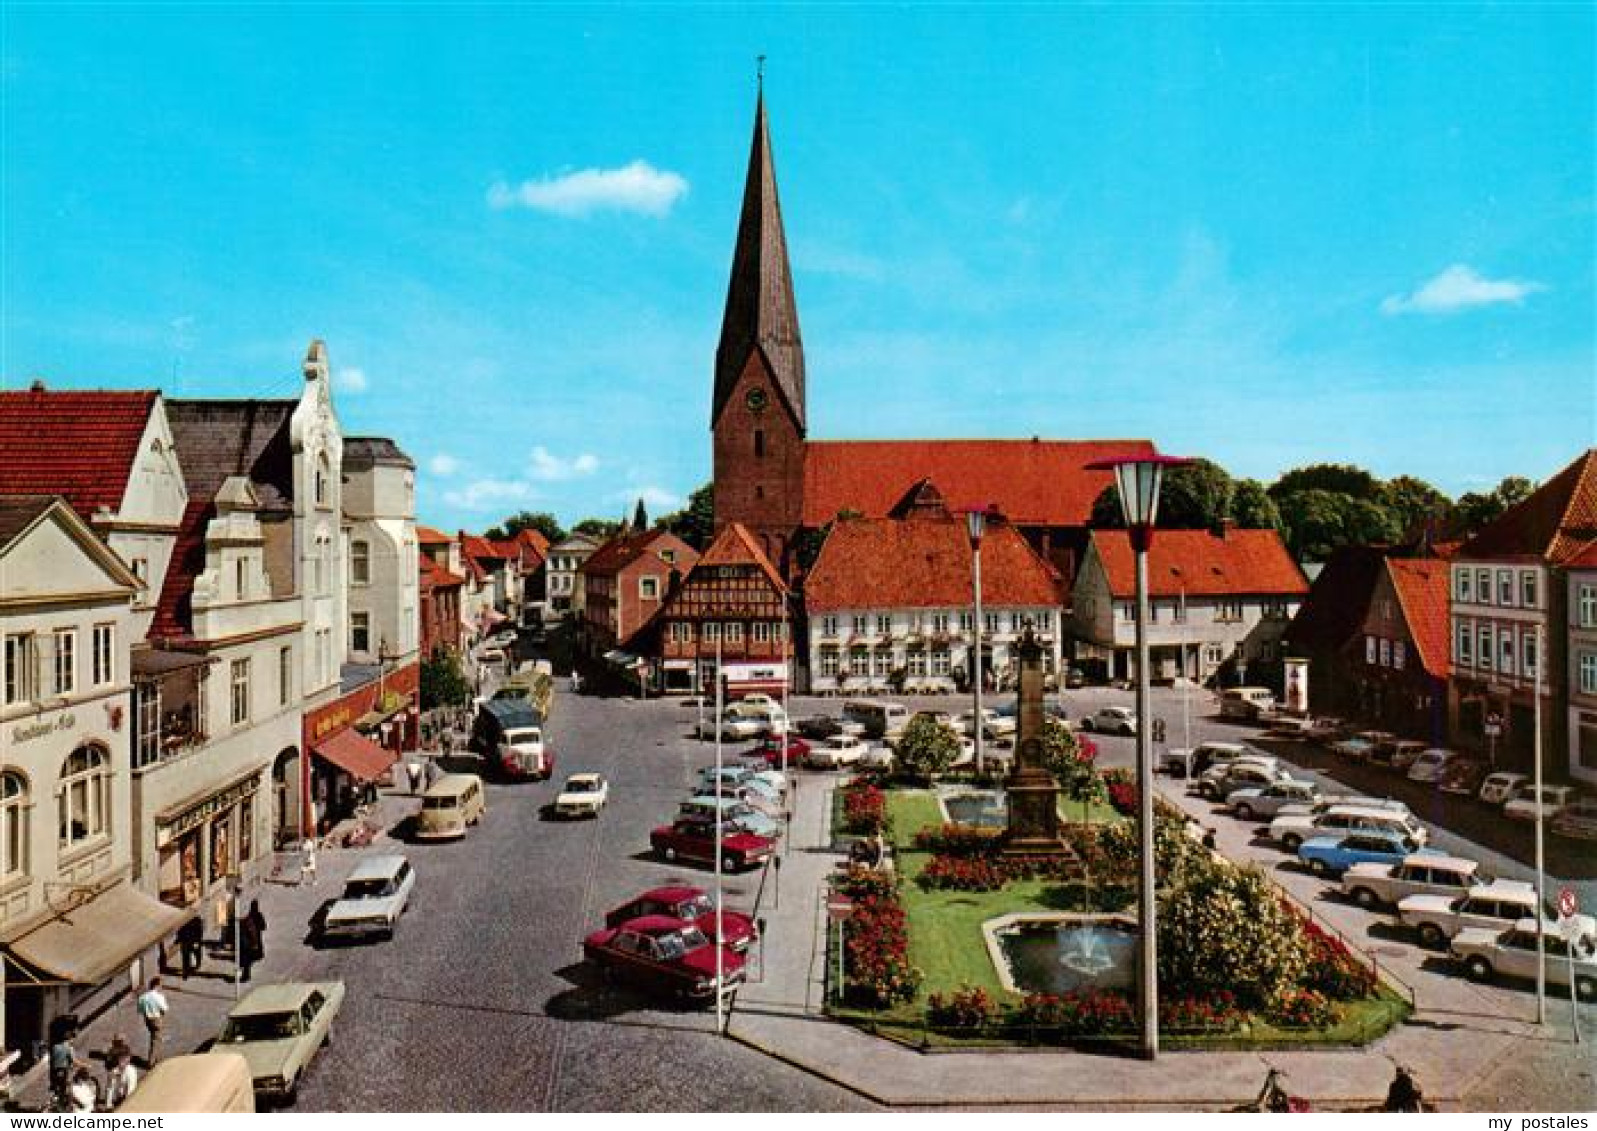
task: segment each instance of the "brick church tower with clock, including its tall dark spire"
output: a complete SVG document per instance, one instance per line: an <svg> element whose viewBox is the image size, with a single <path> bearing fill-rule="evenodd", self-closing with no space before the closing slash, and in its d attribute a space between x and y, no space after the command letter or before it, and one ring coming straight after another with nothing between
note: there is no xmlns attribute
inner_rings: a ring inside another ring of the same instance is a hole
<svg viewBox="0 0 1597 1131"><path fill-rule="evenodd" d="M715 527L746 526L784 573L792 567L789 543L803 522L803 342L762 91L715 347L709 425Z"/></svg>

